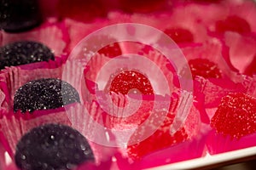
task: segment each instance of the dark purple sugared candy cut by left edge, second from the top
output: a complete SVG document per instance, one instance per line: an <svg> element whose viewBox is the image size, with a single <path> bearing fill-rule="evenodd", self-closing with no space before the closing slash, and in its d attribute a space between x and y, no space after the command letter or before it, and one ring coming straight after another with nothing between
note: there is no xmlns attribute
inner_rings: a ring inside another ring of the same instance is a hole
<svg viewBox="0 0 256 170"><path fill-rule="evenodd" d="M54 54L40 42L13 42L0 48L0 70L5 66L26 65L49 59L54 60Z"/></svg>

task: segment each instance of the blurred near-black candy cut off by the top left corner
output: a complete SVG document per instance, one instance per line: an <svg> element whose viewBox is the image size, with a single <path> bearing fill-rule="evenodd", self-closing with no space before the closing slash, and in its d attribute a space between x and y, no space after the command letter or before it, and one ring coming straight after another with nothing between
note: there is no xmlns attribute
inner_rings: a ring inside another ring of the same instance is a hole
<svg viewBox="0 0 256 170"><path fill-rule="evenodd" d="M0 1L0 29L9 32L26 31L41 22L38 0Z"/></svg>

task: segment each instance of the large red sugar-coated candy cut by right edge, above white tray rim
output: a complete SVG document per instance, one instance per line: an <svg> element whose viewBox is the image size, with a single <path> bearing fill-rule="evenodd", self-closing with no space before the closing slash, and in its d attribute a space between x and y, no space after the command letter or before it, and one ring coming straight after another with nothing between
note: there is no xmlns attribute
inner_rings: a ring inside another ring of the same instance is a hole
<svg viewBox="0 0 256 170"><path fill-rule="evenodd" d="M241 138L256 132L256 99L242 93L225 96L211 120L218 133Z"/></svg>

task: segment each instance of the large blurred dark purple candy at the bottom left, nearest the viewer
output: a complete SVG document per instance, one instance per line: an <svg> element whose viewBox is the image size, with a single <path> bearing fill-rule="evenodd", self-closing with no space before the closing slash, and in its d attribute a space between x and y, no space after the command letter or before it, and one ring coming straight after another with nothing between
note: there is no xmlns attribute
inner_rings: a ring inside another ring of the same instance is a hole
<svg viewBox="0 0 256 170"><path fill-rule="evenodd" d="M16 146L15 163L22 170L66 170L85 161L94 161L90 144L77 130L64 125L35 127Z"/></svg>

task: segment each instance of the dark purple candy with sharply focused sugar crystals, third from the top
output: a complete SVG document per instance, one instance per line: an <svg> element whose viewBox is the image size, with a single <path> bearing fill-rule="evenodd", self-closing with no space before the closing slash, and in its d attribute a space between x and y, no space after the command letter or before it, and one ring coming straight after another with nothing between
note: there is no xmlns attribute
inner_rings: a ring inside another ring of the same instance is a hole
<svg viewBox="0 0 256 170"><path fill-rule="evenodd" d="M15 93L14 111L49 110L80 102L79 93L69 83L55 78L26 82Z"/></svg>

